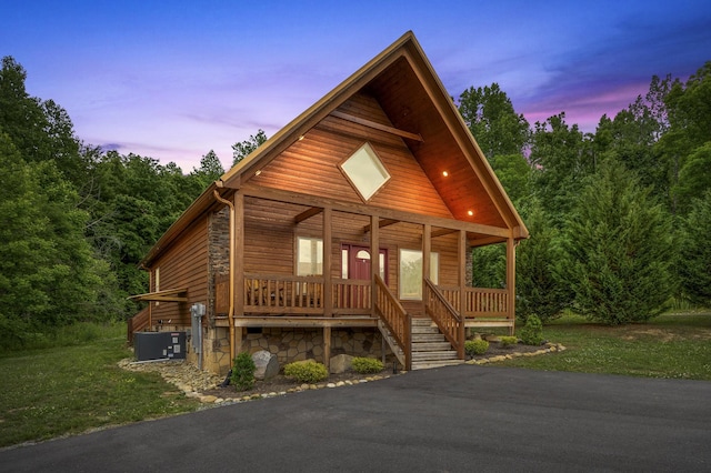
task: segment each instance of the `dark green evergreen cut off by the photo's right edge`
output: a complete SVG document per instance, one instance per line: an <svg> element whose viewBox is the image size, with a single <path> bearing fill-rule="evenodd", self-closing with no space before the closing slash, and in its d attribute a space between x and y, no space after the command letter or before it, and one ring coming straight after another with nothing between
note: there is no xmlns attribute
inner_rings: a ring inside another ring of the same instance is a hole
<svg viewBox="0 0 711 473"><path fill-rule="evenodd" d="M683 294L692 302L711 305L711 191L694 199L681 221L678 272Z"/></svg>

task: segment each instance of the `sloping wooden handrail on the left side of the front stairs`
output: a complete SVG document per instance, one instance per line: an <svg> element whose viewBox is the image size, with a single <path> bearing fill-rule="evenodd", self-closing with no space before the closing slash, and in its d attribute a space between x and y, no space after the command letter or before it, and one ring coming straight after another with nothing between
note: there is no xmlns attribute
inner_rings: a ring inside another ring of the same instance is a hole
<svg viewBox="0 0 711 473"><path fill-rule="evenodd" d="M375 283L374 312L404 353L404 369L410 370L412 368L411 316L379 274L373 276L373 281Z"/></svg>

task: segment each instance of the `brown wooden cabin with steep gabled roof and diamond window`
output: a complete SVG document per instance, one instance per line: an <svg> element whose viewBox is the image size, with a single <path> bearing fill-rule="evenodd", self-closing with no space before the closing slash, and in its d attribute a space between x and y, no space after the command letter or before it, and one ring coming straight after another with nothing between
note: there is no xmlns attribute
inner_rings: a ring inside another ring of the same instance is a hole
<svg viewBox="0 0 711 473"><path fill-rule="evenodd" d="M136 331L190 331L227 373L339 353L403 369L464 359L468 328L514 328L521 218L405 33L212 183L142 261ZM471 249L504 244L504 288L471 286ZM194 326L194 325L193 325ZM199 351L199 353L198 353Z"/></svg>

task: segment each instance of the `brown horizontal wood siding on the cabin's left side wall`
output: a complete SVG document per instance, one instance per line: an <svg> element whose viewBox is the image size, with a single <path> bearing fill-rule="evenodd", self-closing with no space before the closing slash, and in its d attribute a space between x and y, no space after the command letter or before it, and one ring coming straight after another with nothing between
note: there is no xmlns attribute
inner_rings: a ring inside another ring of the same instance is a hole
<svg viewBox="0 0 711 473"><path fill-rule="evenodd" d="M160 268L160 289L188 289L188 302L151 302L151 320L167 325L190 325L190 306L208 302L208 224L202 218L150 268ZM156 288L151 288L156 291ZM168 322L170 321L170 322Z"/></svg>

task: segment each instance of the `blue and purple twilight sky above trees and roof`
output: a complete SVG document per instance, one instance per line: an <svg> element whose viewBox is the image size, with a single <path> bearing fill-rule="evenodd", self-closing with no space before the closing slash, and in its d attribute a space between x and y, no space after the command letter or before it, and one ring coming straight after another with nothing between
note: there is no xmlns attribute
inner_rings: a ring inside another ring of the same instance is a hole
<svg viewBox="0 0 711 473"><path fill-rule="evenodd" d="M268 137L404 32L450 95L497 82L533 124L594 132L711 60L711 1L0 0L0 57L83 142L176 162Z"/></svg>

